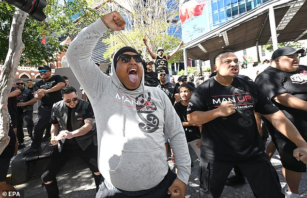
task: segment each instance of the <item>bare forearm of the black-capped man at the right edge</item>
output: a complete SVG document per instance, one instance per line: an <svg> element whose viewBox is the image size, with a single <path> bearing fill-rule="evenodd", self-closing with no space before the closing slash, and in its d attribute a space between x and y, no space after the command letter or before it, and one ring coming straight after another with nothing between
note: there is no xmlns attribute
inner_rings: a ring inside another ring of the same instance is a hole
<svg viewBox="0 0 307 198"><path fill-rule="evenodd" d="M286 107L307 111L307 101L299 99L291 94L278 94L273 99Z"/></svg>

